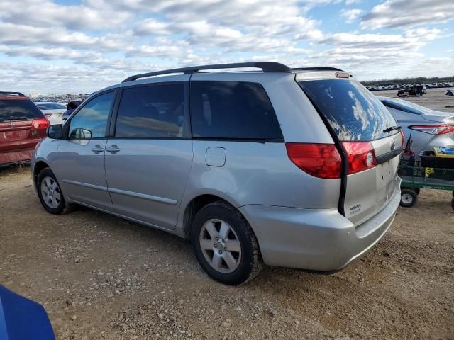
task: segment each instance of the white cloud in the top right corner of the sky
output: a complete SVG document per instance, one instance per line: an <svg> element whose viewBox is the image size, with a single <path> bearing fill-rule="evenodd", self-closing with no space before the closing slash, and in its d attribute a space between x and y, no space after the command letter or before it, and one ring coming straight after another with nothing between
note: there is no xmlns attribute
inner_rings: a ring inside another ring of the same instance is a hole
<svg viewBox="0 0 454 340"><path fill-rule="evenodd" d="M361 28L406 28L454 19L453 0L387 0L362 17Z"/></svg>

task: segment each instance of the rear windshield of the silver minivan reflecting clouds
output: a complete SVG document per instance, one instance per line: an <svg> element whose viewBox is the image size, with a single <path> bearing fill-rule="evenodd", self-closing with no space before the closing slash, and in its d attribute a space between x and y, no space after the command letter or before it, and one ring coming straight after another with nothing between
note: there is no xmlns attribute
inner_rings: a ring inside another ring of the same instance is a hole
<svg viewBox="0 0 454 340"><path fill-rule="evenodd" d="M358 81L324 79L300 81L299 86L328 120L339 140L378 140L397 123L387 108Z"/></svg>

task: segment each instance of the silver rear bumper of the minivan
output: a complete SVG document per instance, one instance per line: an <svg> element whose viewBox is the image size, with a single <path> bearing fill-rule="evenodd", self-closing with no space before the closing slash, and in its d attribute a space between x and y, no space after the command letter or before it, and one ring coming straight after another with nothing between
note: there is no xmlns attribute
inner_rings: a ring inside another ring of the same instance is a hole
<svg viewBox="0 0 454 340"><path fill-rule="evenodd" d="M399 202L398 186L387 205L357 227L336 209L245 205L240 211L253 227L267 265L338 271L380 241Z"/></svg>

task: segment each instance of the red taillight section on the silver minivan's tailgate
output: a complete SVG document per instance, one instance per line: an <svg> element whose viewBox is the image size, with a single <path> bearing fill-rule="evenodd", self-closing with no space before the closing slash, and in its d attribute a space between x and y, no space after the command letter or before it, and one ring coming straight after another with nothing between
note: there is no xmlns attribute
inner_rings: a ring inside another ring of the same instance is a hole
<svg viewBox="0 0 454 340"><path fill-rule="evenodd" d="M375 150L370 142L342 142L348 155L348 174L372 169L377 165Z"/></svg>

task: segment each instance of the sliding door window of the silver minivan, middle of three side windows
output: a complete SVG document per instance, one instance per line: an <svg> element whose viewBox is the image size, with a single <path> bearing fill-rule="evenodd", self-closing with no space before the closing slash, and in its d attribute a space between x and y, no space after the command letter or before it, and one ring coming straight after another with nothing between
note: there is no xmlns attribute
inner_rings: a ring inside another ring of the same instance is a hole
<svg viewBox="0 0 454 340"><path fill-rule="evenodd" d="M115 137L183 137L183 84L153 84L123 89Z"/></svg>

